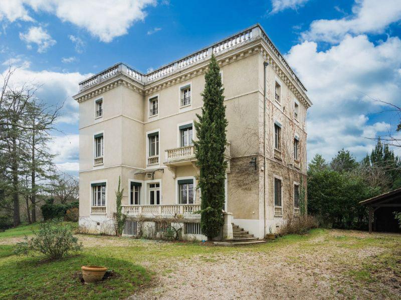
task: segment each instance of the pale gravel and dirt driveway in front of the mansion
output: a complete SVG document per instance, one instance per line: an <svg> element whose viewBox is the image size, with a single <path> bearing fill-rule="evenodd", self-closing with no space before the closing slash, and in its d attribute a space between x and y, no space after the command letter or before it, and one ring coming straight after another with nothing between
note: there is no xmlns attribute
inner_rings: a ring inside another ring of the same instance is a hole
<svg viewBox="0 0 401 300"><path fill-rule="evenodd" d="M371 237L342 230L330 230L327 236ZM383 251L376 246L338 247L335 240L319 236L268 252L198 255L157 267L149 265L156 272L155 287L130 299L376 298L373 286L371 290L358 287L357 282L354 285L344 278L344 272L356 270L364 259ZM172 272L165 273L166 269ZM396 279L401 283L401 278ZM389 292L390 298L401 297L399 284Z"/></svg>

